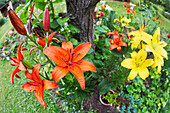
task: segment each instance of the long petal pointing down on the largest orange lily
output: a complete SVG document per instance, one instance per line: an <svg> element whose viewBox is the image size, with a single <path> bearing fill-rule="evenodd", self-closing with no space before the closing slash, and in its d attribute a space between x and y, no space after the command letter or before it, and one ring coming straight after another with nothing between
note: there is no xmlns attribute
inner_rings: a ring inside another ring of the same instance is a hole
<svg viewBox="0 0 170 113"><path fill-rule="evenodd" d="M70 68L70 72L76 77L80 87L84 90L85 89L85 79L83 71L77 65L72 65Z"/></svg>

